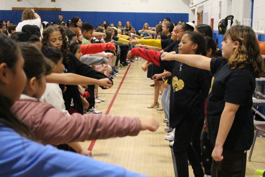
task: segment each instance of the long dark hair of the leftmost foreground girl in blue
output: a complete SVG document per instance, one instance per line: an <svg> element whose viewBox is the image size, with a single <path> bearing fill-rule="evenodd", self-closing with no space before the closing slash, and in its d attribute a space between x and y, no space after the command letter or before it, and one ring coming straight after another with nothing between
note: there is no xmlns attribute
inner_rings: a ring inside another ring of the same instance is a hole
<svg viewBox="0 0 265 177"><path fill-rule="evenodd" d="M0 35L0 63L6 63L8 68L14 68L18 53L20 53L20 49L15 42L5 35ZM11 100L0 93L0 122L14 129L20 135L34 140L34 135L29 128L10 111L12 104Z"/></svg>

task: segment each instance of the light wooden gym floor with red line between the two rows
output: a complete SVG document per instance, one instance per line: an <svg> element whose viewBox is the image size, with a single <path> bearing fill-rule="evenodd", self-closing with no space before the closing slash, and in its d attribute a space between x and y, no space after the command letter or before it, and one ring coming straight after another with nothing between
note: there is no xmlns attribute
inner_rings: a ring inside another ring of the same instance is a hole
<svg viewBox="0 0 265 177"><path fill-rule="evenodd" d="M103 114L132 116L144 118L153 116L160 122L156 132L141 131L138 136L111 138L81 142L83 148L92 149L93 158L123 166L125 169L149 176L175 176L172 153L164 137L166 123L163 111L147 108L153 103L153 81L147 78L147 73L141 69L145 60L121 68L114 85L110 89L99 88L99 97L105 102L96 103L96 109ZM161 96L158 98L161 107ZM239 132L240 133L240 132ZM248 151L249 154L249 151ZM246 176L257 177L255 169L265 170L265 138L257 137L251 162L247 162ZM176 168L176 167L175 167ZM194 176L189 166L189 176Z"/></svg>

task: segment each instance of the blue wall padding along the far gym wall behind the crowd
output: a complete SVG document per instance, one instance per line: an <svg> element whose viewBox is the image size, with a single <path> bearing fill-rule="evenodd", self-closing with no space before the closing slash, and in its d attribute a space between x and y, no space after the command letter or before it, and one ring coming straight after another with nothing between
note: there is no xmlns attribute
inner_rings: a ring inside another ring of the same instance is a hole
<svg viewBox="0 0 265 177"><path fill-rule="evenodd" d="M11 23L18 24L21 21L22 10L0 10L0 20L10 20ZM189 14L181 13L139 13L139 12L85 12L85 11L36 11L41 17L41 21L58 21L58 15L63 14L64 21L72 19L74 16L81 18L82 22L89 22L95 27L107 20L108 24L114 23L117 26L119 20L125 26L126 21L130 21L136 30L142 29L145 22L150 27L155 27L158 21L169 17L171 23L179 20L188 21Z"/></svg>

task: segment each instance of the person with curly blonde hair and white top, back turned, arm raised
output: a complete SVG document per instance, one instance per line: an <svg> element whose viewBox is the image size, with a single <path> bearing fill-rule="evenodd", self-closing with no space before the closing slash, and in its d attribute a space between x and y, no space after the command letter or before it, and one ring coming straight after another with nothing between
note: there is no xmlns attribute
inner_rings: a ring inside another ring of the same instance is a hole
<svg viewBox="0 0 265 177"><path fill-rule="evenodd" d="M35 19L34 19L35 17ZM43 31L43 26L41 24L41 17L34 11L33 8L25 8L22 13L21 22L16 27L16 32L22 31L24 25L36 25L41 30L41 36Z"/></svg>

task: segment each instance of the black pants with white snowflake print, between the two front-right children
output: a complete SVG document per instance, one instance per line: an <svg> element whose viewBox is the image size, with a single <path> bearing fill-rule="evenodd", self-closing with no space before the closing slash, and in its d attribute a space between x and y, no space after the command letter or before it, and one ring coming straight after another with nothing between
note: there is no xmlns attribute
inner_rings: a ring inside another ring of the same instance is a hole
<svg viewBox="0 0 265 177"><path fill-rule="evenodd" d="M212 152L214 146L211 141L207 138L207 132L202 131L201 135L201 155L202 155L202 164L204 167L204 173L206 175L211 175L211 166L212 166Z"/></svg>

